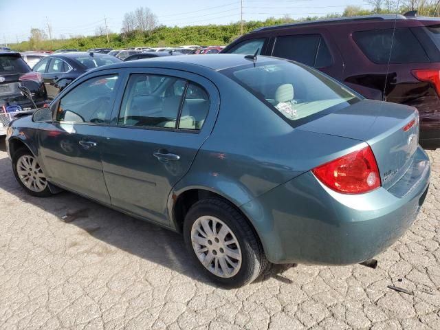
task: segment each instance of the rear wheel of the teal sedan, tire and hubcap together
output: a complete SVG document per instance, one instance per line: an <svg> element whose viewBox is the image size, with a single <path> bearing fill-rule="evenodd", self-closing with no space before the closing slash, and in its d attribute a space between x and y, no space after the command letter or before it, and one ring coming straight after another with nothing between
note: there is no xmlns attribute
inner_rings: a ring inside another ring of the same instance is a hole
<svg viewBox="0 0 440 330"><path fill-rule="evenodd" d="M248 220L222 199L202 199L190 208L184 222L184 239L201 272L221 287L251 283L267 267L261 242Z"/></svg>

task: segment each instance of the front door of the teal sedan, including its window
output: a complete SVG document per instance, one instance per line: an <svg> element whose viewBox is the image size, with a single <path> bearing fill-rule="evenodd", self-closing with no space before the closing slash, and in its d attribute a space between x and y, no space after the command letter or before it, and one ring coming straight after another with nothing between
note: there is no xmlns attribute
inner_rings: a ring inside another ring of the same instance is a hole
<svg viewBox="0 0 440 330"><path fill-rule="evenodd" d="M100 146L118 87L117 70L84 77L52 102L54 120L42 123L39 130L47 178L58 186L108 204Z"/></svg>

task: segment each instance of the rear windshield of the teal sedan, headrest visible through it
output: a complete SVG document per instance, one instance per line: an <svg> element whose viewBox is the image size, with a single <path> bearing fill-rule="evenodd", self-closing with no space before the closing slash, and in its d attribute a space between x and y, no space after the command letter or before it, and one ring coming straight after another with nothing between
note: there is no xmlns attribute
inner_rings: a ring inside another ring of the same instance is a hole
<svg viewBox="0 0 440 330"><path fill-rule="evenodd" d="M360 100L315 69L289 61L233 67L222 73L291 122Z"/></svg>

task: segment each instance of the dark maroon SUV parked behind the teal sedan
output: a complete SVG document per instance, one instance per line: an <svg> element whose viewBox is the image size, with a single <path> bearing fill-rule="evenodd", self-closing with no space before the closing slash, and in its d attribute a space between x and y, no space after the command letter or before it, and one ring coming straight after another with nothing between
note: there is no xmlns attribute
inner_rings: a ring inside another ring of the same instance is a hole
<svg viewBox="0 0 440 330"><path fill-rule="evenodd" d="M417 107L421 146L440 147L440 19L393 14L269 26L221 53L257 50L316 67L366 98Z"/></svg>

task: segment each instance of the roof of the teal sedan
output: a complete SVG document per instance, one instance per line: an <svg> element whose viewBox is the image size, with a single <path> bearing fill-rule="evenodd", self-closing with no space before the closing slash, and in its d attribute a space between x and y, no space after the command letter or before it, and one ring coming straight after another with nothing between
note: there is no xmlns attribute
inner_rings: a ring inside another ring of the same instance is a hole
<svg viewBox="0 0 440 330"><path fill-rule="evenodd" d="M269 56L258 56L257 63L273 63L274 61L285 61L280 58ZM210 54L210 56L159 56L153 58L140 59L138 61L128 61L105 65L101 69L120 68L120 67L171 67L179 65L179 69L194 67L206 67L215 71L238 67L250 64L252 61L245 58L243 54ZM175 68L175 67L174 67Z"/></svg>

